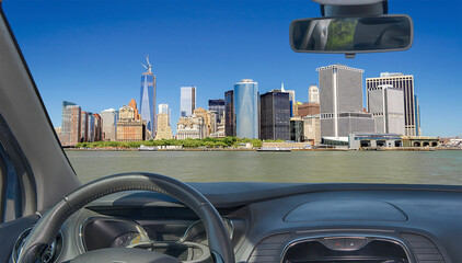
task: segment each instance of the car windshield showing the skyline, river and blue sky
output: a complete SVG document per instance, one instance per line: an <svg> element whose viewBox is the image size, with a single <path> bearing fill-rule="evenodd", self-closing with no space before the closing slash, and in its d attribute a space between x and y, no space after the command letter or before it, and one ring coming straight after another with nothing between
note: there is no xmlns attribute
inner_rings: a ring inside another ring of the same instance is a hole
<svg viewBox="0 0 462 263"><path fill-rule="evenodd" d="M459 1L390 1L413 46L354 59L290 48L291 21L322 16L307 0L3 8L81 182L462 184Z"/></svg>

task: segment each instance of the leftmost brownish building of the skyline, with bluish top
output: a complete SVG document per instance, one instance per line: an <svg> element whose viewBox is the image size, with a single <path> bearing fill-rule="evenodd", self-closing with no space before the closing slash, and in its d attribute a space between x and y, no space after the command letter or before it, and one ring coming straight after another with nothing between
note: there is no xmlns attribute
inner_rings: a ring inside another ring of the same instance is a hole
<svg viewBox="0 0 462 263"><path fill-rule="evenodd" d="M62 124L59 140L62 146L74 146L81 137L81 108L72 102L62 102Z"/></svg>

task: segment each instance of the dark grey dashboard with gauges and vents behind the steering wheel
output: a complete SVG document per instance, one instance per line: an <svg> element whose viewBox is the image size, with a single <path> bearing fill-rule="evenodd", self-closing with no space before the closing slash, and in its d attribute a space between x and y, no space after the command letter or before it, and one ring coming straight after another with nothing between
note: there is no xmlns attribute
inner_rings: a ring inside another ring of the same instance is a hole
<svg viewBox="0 0 462 263"><path fill-rule="evenodd" d="M222 216L236 262L462 262L458 188L230 184L193 186ZM182 262L211 262L197 215L158 193L118 193L80 209L62 226L46 262L104 248L146 249Z"/></svg>

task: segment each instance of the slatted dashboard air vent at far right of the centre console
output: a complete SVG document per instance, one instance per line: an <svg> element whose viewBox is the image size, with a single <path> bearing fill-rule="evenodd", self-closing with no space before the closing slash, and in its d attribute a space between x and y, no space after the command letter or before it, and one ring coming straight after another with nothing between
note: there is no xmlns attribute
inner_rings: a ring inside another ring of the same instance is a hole
<svg viewBox="0 0 462 263"><path fill-rule="evenodd" d="M440 251L428 238L409 232L402 232L401 237L408 242L418 263L444 263Z"/></svg>

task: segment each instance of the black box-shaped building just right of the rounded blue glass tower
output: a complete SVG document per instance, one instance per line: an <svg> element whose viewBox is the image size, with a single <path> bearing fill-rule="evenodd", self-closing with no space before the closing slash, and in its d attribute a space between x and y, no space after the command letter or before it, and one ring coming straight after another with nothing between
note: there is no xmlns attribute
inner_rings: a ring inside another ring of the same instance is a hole
<svg viewBox="0 0 462 263"><path fill-rule="evenodd" d="M261 139L290 139L289 93L273 90L259 95L259 103Z"/></svg>

